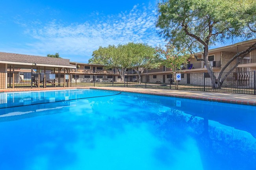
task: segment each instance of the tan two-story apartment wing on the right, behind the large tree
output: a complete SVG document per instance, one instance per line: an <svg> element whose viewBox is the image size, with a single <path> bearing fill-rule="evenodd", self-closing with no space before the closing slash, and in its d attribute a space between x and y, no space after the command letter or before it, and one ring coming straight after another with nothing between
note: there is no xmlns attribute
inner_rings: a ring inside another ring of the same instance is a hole
<svg viewBox="0 0 256 170"><path fill-rule="evenodd" d="M214 48L209 50L208 59L212 66L214 72L218 73L221 69L225 66L225 64L238 52L243 51L248 48L248 46L254 44L256 39L248 40L245 42L239 42L236 44L232 44L229 46L224 46L220 48ZM202 58L202 52L198 52L198 58ZM198 84L199 79L208 79L206 82L208 85L211 84L210 77L208 75L208 71L204 66L203 61L197 61L196 58L189 58L187 60L186 65L181 66L181 77L183 79L184 84ZM236 64L237 60L234 60L229 66L226 68L228 71ZM248 72L256 70L256 50L252 51L247 57L244 57L243 60L240 62L238 67L233 71L234 73L228 76L230 80L237 80L236 85L244 85L247 84L246 82L250 79L254 79L254 77L249 77ZM173 79L172 71L170 68L165 66L160 66L157 69L144 69L142 75L142 82L161 82L161 83L168 83L170 80ZM198 73L197 77L191 77L191 73ZM204 73L204 74L199 74ZM137 76L135 73L131 71L128 72L128 81L135 81ZM225 73L224 73L225 75ZM202 83L202 82L201 82Z"/></svg>

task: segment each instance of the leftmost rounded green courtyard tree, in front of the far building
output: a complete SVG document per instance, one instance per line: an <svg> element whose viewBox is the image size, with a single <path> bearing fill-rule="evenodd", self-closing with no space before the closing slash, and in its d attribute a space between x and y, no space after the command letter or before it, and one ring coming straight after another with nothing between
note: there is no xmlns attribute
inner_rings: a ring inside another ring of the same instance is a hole
<svg viewBox="0 0 256 170"><path fill-rule="evenodd" d="M126 53L123 45L109 45L108 47L99 47L93 51L93 58L89 59L89 63L102 64L108 68L116 68L124 81L124 73L131 66L130 58Z"/></svg>

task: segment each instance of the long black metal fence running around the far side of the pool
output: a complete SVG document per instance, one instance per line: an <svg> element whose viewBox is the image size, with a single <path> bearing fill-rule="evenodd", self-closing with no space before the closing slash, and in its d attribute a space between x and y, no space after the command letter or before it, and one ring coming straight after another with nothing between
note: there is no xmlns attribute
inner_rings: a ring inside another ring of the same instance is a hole
<svg viewBox="0 0 256 170"><path fill-rule="evenodd" d="M214 73L218 76L219 73ZM223 73L222 78L226 75ZM213 89L208 73L182 73L177 81L178 90L209 91L223 93L256 94L255 71L230 73L221 89ZM135 87L175 90L173 74L126 75L125 81L117 75L88 75L63 73L0 72L0 88L51 88L51 87Z"/></svg>

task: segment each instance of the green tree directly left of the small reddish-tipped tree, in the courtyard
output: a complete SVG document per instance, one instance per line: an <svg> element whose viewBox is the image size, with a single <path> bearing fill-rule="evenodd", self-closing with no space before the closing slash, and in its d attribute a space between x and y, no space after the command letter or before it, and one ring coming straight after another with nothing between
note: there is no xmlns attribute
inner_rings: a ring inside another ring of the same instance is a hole
<svg viewBox="0 0 256 170"><path fill-rule="evenodd" d="M143 43L129 42L125 45L126 53L131 59L130 68L138 74L139 84L141 84L141 73L145 69L158 68L160 66L160 56L155 55L155 50L151 46Z"/></svg>

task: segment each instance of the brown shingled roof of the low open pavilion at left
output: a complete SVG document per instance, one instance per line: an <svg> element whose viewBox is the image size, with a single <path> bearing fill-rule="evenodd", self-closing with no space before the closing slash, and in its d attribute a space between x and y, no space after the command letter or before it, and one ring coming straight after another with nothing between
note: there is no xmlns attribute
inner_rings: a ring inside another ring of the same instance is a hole
<svg viewBox="0 0 256 170"><path fill-rule="evenodd" d="M35 55L24 55L4 52L0 52L0 62L19 65L75 68L74 65L70 64L69 59L41 57Z"/></svg>

